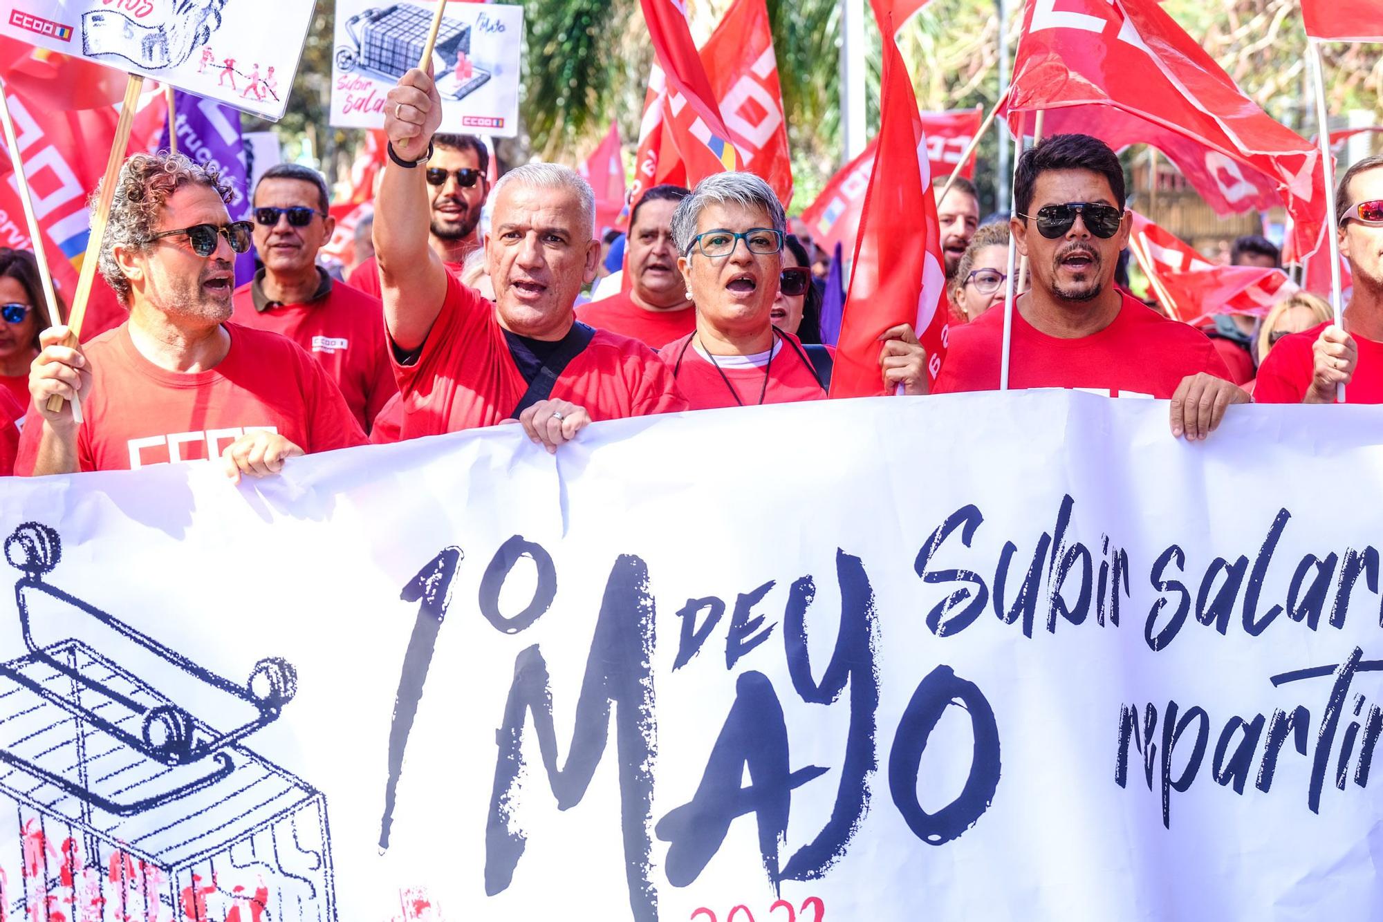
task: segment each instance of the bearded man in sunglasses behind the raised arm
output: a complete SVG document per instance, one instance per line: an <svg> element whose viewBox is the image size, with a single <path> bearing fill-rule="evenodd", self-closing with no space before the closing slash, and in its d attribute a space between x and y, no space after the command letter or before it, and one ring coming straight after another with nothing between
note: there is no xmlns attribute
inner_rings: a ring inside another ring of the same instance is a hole
<svg viewBox="0 0 1383 922"><path fill-rule="evenodd" d="M480 210L490 195L490 151L473 134L434 134L425 176L431 195L427 245L447 271L461 278L466 257L481 246ZM371 297L383 299L379 263L372 256L346 279Z"/></svg>

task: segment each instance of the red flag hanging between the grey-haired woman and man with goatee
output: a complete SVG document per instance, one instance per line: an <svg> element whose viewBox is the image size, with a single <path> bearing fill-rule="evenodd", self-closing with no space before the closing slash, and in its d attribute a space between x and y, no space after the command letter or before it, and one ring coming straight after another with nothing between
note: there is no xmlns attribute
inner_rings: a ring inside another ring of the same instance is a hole
<svg viewBox="0 0 1383 922"><path fill-rule="evenodd" d="M946 271L940 223L932 198L927 135L917 115L913 79L892 33L884 33L880 130L875 170L864 194L851 290L831 373L831 397L884 391L878 336L911 323L927 348L928 380L946 354ZM906 216L907 232L899 232Z"/></svg>

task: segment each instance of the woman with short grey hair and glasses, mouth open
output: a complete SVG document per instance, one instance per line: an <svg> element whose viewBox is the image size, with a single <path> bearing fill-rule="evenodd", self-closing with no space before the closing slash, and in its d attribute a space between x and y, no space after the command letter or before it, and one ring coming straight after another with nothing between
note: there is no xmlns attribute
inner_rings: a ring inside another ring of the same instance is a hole
<svg viewBox="0 0 1383 922"><path fill-rule="evenodd" d="M752 173L716 173L672 214L696 330L658 354L692 409L822 399L826 387L792 333L773 326L787 217Z"/></svg>

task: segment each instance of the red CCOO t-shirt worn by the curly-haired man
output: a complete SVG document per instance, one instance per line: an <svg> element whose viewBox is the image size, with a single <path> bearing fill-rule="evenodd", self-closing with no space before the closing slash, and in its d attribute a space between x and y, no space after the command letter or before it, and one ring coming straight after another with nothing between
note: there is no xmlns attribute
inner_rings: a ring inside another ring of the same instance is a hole
<svg viewBox="0 0 1383 922"><path fill-rule="evenodd" d="M278 333L225 323L231 348L205 372L169 372L144 358L129 323L83 347L91 390L77 430L82 470L130 470L220 458L267 429L304 452L364 445L365 433L322 366ZM29 408L15 470L33 471L43 417Z"/></svg>

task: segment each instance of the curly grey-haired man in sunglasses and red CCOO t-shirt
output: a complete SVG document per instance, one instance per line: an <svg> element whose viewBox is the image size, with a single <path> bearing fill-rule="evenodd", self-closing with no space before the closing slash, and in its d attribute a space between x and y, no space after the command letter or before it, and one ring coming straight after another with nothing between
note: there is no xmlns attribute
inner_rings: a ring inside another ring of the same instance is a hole
<svg viewBox="0 0 1383 922"><path fill-rule="evenodd" d="M220 459L261 477L285 459L365 442L336 384L290 340L228 322L236 253L231 189L210 166L138 153L120 169L100 270L129 311L80 350L40 336L29 373L22 474ZM50 411L50 397L64 399ZM80 397L80 417L73 398Z"/></svg>

